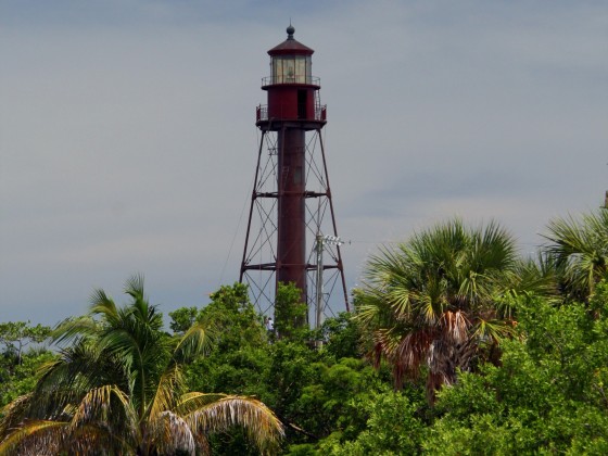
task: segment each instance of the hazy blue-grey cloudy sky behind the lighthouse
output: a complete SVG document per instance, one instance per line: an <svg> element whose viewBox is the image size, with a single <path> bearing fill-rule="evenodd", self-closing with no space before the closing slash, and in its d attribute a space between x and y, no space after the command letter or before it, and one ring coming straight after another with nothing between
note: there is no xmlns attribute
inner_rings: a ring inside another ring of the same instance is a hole
<svg viewBox="0 0 608 456"><path fill-rule="evenodd" d="M347 288L451 217L534 252L608 190L608 2L0 0L0 321L145 277L165 315L238 280L286 28L313 48Z"/></svg>

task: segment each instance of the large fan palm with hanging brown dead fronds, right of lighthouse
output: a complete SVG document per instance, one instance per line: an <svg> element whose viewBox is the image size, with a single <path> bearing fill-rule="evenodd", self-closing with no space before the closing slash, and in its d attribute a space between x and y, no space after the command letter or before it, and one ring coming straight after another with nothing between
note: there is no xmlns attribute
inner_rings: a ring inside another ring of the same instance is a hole
<svg viewBox="0 0 608 456"><path fill-rule="evenodd" d="M357 318L371 333L375 360L387 358L397 387L428 367L429 400L496 350L515 326L509 296L547 292L534 262L517 256L497 224L471 229L459 219L384 246L368 261L355 293Z"/></svg>

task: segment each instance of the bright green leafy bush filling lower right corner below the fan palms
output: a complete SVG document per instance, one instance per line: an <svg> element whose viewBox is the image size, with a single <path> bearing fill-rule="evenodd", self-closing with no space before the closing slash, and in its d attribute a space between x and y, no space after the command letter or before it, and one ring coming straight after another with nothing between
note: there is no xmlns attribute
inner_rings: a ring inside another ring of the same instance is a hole
<svg viewBox="0 0 608 456"><path fill-rule="evenodd" d="M503 344L501 367L461 375L443 390L423 448L444 454L606 454L608 294L583 304L521 303L520 339Z"/></svg>

